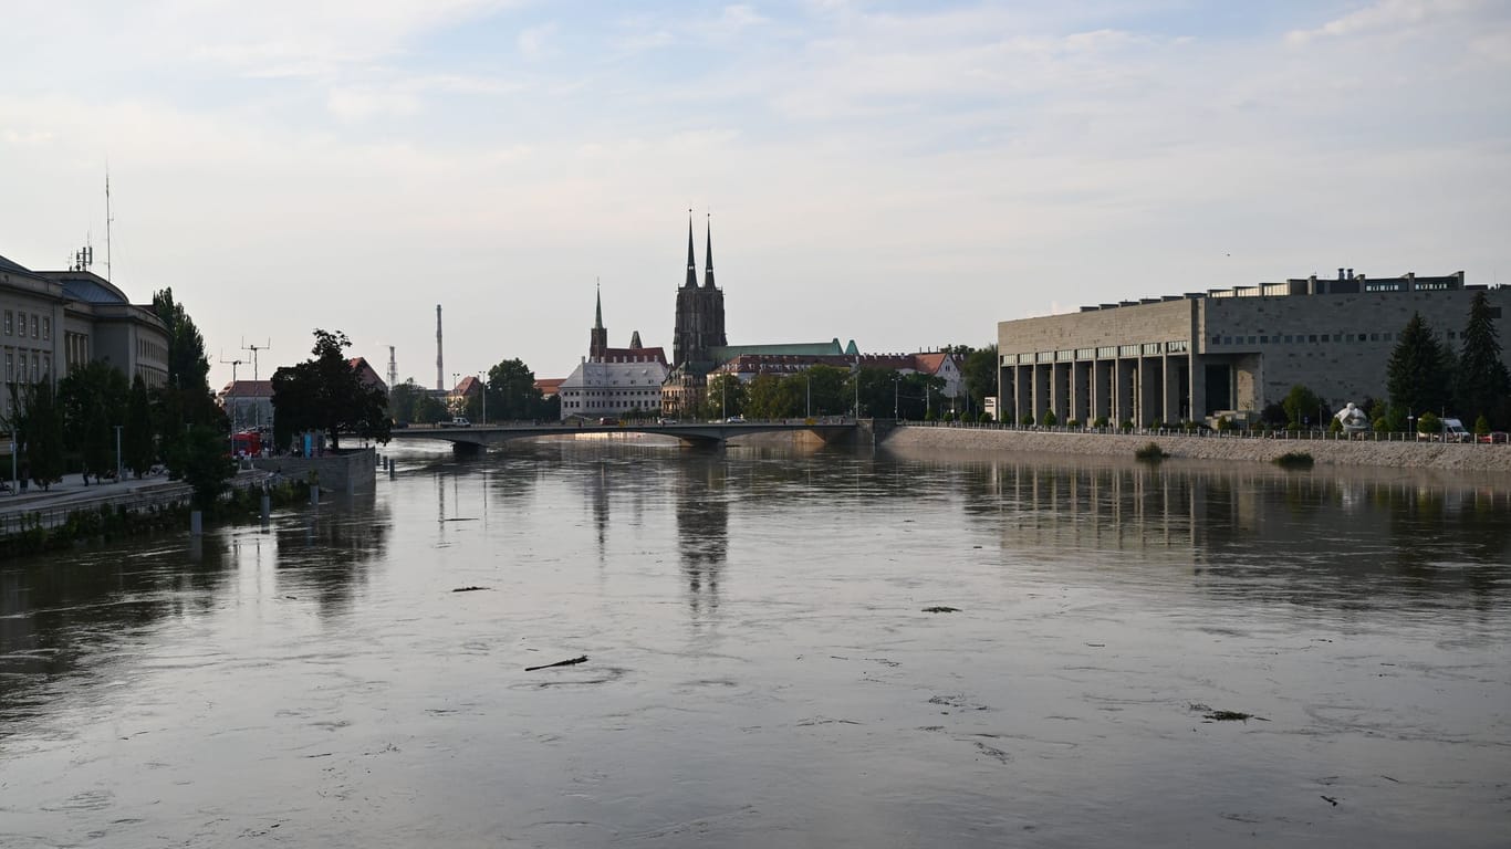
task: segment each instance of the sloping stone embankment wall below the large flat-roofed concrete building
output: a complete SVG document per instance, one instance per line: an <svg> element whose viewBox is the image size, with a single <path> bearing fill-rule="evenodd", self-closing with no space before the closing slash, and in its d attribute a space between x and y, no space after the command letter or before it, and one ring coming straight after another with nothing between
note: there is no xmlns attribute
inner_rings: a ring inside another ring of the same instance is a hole
<svg viewBox="0 0 1511 849"><path fill-rule="evenodd" d="M1065 453L1132 458L1156 443L1173 458L1271 462L1287 452L1306 452L1318 465L1448 468L1511 474L1511 446L1443 443L1375 443L1346 440L1266 440L1242 437L1166 437L1157 434L1070 434L975 428L899 426L884 447L950 449L1003 453Z"/></svg>

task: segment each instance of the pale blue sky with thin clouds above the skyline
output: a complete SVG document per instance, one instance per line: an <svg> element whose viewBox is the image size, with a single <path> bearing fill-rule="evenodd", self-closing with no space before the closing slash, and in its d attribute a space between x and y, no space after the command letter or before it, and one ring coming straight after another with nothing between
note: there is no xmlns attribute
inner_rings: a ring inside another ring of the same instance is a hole
<svg viewBox="0 0 1511 849"><path fill-rule="evenodd" d="M1511 282L1503 0L0 0L0 255L171 287L212 385L314 328L562 378L1352 267ZM106 174L110 180L109 251ZM109 269L106 258L109 255Z"/></svg>

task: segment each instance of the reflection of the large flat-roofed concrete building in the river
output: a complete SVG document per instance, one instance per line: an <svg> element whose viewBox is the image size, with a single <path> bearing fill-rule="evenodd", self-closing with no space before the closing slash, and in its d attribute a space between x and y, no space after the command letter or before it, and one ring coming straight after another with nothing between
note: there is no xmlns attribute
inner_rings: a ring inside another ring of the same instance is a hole
<svg viewBox="0 0 1511 849"><path fill-rule="evenodd" d="M1005 550L1228 570L1296 603L1478 588L1511 562L1511 494L1429 477L1002 462L964 489Z"/></svg>

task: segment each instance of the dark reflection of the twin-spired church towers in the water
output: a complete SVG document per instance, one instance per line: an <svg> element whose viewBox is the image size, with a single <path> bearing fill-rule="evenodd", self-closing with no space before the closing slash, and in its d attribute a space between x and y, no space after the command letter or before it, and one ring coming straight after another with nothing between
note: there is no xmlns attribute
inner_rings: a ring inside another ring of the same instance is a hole
<svg viewBox="0 0 1511 849"><path fill-rule="evenodd" d="M719 606L719 573L728 556L730 506L722 458L677 464L677 550L694 618Z"/></svg>

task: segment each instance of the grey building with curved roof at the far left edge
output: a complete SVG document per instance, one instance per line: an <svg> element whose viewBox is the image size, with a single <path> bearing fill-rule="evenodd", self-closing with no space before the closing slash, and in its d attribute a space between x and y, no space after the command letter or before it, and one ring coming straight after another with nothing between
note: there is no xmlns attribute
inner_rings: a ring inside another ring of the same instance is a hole
<svg viewBox="0 0 1511 849"><path fill-rule="evenodd" d="M0 379L56 382L91 360L159 387L168 379L168 328L151 305L131 304L94 272L33 272L0 257ZM0 417L9 405L9 388L0 390Z"/></svg>

